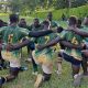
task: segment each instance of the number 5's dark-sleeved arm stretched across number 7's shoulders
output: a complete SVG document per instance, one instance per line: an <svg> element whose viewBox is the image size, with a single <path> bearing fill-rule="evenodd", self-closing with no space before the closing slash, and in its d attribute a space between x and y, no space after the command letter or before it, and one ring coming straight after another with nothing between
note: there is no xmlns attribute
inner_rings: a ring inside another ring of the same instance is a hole
<svg viewBox="0 0 88 88"><path fill-rule="evenodd" d="M44 36L44 35L47 35L47 34L51 34L51 33L56 33L56 32L62 32L63 31L63 28L58 28L58 29L55 29L55 30L41 30L41 31L28 31L26 29L23 29L23 30L20 30L21 33L22 33L22 37L23 36L30 36L30 37L40 37L40 36Z"/></svg>

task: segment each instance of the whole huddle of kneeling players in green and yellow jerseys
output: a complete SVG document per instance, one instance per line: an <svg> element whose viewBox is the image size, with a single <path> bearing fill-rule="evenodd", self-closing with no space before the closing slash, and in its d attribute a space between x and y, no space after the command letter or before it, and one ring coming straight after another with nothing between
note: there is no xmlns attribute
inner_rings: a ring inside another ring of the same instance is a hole
<svg viewBox="0 0 88 88"><path fill-rule="evenodd" d="M82 24L81 20L70 16L67 29L58 26L52 18L50 12L42 23L38 19L34 19L34 23L28 26L24 19L19 22L19 16L11 14L10 24L0 29L2 58L0 61L10 63L10 74L7 77L0 77L0 87L18 77L21 68L21 48L24 46L28 46L34 74L36 74L34 88L38 88L42 82L51 79L54 58L57 59L58 75L62 74L63 59L70 63L75 87L80 85L81 77L88 75L88 16ZM43 74L38 73L38 65ZM79 72L80 66L84 73Z"/></svg>

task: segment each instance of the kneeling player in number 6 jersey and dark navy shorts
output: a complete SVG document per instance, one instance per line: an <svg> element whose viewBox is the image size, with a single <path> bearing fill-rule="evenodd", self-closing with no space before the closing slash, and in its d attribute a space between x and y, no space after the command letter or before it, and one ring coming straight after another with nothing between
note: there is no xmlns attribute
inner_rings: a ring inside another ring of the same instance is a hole
<svg viewBox="0 0 88 88"><path fill-rule="evenodd" d="M73 30L77 29L77 19L75 16L69 18L68 29L70 30L70 28L73 28ZM75 46L81 45L84 37L78 34L75 34L74 32L70 32L70 31L62 32L61 36L63 40L70 42L74 45L74 47L67 46L65 48L65 51L62 51L58 54L58 56L63 57L64 59L66 59L67 62L69 62L72 64L74 86L79 86L80 85L79 69L80 69L80 65L82 62L82 57L81 57L80 48L75 48ZM57 37L56 40L53 40L51 43L40 46L40 48L44 48L44 47L54 45L59 40ZM65 42L61 42L61 43L65 44Z"/></svg>

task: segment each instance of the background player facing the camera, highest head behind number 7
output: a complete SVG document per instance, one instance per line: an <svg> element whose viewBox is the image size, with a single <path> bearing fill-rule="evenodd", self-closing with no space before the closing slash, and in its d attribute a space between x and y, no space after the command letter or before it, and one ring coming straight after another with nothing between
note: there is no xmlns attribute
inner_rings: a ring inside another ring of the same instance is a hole
<svg viewBox="0 0 88 88"><path fill-rule="evenodd" d="M50 28L52 28L53 30L58 28L58 24L55 21L53 21L52 12L48 12L46 20L50 22ZM53 48L55 53L59 52L59 44L56 44ZM57 56L57 59L58 59L56 61L57 69L55 72L59 76L62 74L62 58Z"/></svg>

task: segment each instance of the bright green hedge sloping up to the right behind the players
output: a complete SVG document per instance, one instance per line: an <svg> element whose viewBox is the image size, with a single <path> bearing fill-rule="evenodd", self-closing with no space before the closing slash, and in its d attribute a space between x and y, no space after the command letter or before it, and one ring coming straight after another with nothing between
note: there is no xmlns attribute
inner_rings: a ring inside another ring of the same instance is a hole
<svg viewBox="0 0 88 88"><path fill-rule="evenodd" d="M73 8L73 9L53 10L52 12L53 12L53 19L54 20L61 20L63 13L67 18L69 15L77 15L78 18L84 18L88 14L88 6L82 6L82 7ZM38 12L36 11L33 14L31 14L31 16L45 19L47 13L48 13L48 10L44 11L44 12L43 11L38 11Z"/></svg>

